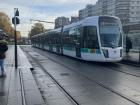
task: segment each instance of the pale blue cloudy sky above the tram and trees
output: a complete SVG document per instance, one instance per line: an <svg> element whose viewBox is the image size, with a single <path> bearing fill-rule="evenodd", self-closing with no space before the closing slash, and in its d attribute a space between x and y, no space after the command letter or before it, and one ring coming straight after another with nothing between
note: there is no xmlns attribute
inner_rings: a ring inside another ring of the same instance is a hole
<svg viewBox="0 0 140 105"><path fill-rule="evenodd" d="M95 4L97 0L0 0L0 12L6 13L10 19L14 16L14 8L19 10L20 24L17 30L27 37L35 21L30 19L54 22L57 17L78 16L78 11L87 4ZM46 29L54 25L42 23Z"/></svg>

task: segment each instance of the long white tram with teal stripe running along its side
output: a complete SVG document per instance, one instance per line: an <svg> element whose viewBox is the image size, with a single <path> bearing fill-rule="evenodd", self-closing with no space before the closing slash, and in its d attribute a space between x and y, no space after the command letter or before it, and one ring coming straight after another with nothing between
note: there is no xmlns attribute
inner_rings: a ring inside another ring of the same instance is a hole
<svg viewBox="0 0 140 105"><path fill-rule="evenodd" d="M118 62L123 56L120 19L114 16L92 16L64 27L34 35L34 47L74 58Z"/></svg>

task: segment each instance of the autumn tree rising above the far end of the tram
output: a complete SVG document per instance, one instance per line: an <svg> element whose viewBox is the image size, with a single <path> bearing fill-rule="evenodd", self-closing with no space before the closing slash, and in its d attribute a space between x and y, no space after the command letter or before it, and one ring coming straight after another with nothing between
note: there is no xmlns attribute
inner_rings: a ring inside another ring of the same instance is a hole
<svg viewBox="0 0 140 105"><path fill-rule="evenodd" d="M44 32L43 24L36 23L34 25L34 27L31 29L30 35L33 36L33 35L36 35L36 34L39 34L39 33L42 33L42 32Z"/></svg>

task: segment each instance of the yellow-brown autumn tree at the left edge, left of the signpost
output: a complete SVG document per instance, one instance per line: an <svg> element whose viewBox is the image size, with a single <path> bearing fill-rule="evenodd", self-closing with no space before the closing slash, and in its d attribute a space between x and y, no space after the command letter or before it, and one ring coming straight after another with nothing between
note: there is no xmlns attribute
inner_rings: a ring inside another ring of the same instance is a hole
<svg viewBox="0 0 140 105"><path fill-rule="evenodd" d="M10 18L3 12L0 12L0 29L2 29L7 35L13 34Z"/></svg>

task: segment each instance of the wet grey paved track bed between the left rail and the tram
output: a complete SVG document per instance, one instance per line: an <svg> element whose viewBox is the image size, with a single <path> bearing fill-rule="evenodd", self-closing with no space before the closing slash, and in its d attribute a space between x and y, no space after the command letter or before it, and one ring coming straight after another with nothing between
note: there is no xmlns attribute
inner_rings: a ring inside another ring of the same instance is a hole
<svg viewBox="0 0 140 105"><path fill-rule="evenodd" d="M105 77L107 76L105 75L105 72L107 72L105 70L102 75L99 75L98 73L93 75L94 72L91 72L88 69L88 73L85 73L83 70L81 70L81 72L74 67L69 67L62 63L60 64L59 62L54 61L54 59L42 56L36 52L27 51L27 53L29 56L32 56L33 61L36 61L44 72L47 71L80 105L139 105L139 90L125 86L123 83L120 84L121 81L119 80L116 80L116 82L112 84L115 80L108 81L108 78ZM108 70L108 72L110 71ZM109 75L111 75L111 73ZM102 76L104 76L104 79ZM125 80L122 80L122 82L129 81L127 79L129 79L128 76L126 76ZM133 76L130 80L139 81L139 78ZM135 96L133 96L134 94Z"/></svg>

